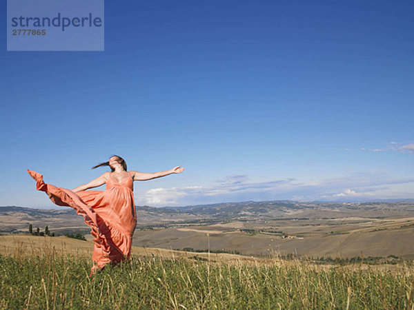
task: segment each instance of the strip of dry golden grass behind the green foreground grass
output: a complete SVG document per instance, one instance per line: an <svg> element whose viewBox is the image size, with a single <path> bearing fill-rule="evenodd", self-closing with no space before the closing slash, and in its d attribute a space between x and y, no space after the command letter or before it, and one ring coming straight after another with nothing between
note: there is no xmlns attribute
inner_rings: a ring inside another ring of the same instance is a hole
<svg viewBox="0 0 414 310"><path fill-rule="evenodd" d="M92 236L89 240L77 240L66 236L49 237L49 236L32 236L30 234L11 234L0 236L0 253L3 256L12 256L14 258L25 258L28 256L37 256L46 258L53 254L54 256L75 256L81 258L91 258L93 241ZM366 265L361 263L349 265L332 265L332 264L315 264L306 259L283 259L278 252L273 252L269 258L257 258L253 256L243 256L236 254L215 254L208 252L188 252L176 251L171 249L159 249L152 247L134 247L132 246L132 257L151 258L159 257L166 259L190 258L193 260L204 260L211 264L226 263L230 265L248 265L248 266L306 266L308 269L315 271L328 270L331 268L347 269L348 271L356 270L375 270L391 271L393 273L406 272L406 265ZM411 270L411 269L410 269Z"/></svg>

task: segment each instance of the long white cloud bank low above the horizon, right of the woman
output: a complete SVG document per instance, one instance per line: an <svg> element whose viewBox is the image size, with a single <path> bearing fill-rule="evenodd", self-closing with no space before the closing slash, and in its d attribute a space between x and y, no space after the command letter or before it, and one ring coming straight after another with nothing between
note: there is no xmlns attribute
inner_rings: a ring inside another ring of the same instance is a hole
<svg viewBox="0 0 414 310"><path fill-rule="evenodd" d="M381 172L364 172L312 181L294 178L252 182L245 174L225 176L208 187L157 188L137 194L138 205L197 205L243 200L335 200L338 198L384 198L392 187L414 183L414 178L391 178ZM400 192L414 196L414 192ZM393 197L394 198L394 197Z"/></svg>

